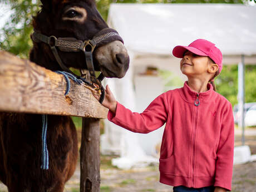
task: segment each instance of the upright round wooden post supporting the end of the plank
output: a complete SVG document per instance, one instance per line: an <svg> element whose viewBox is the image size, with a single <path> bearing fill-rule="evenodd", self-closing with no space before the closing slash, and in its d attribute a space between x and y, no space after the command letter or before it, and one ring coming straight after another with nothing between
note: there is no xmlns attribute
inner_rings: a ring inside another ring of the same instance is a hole
<svg viewBox="0 0 256 192"><path fill-rule="evenodd" d="M82 119L80 192L100 192L100 119Z"/></svg>

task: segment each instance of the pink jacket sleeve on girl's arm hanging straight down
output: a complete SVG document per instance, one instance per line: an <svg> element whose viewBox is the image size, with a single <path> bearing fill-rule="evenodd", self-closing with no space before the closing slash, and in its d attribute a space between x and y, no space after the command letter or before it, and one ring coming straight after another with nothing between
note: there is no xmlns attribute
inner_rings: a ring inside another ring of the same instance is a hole
<svg viewBox="0 0 256 192"><path fill-rule="evenodd" d="M214 186L231 191L234 159L234 117L232 105L224 112L217 150Z"/></svg>

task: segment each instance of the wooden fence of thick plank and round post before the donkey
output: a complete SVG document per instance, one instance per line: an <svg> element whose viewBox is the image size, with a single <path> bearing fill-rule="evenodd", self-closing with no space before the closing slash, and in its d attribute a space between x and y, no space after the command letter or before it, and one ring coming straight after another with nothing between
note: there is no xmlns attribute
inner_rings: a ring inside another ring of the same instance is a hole
<svg viewBox="0 0 256 192"><path fill-rule="evenodd" d="M80 191L100 191L100 126L107 109L86 87L71 80L65 97L63 75L0 51L0 111L82 118Z"/></svg>

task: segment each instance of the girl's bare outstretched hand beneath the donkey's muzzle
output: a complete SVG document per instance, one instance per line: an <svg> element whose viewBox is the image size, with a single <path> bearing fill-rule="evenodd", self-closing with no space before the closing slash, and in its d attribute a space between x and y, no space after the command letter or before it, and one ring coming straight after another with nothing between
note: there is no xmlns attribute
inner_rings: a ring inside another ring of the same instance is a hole
<svg viewBox="0 0 256 192"><path fill-rule="evenodd" d="M102 105L104 107L107 107L111 112L116 113L116 99L113 95L113 93L110 91L109 85L106 86L105 89L105 97L104 100L102 102ZM100 95L97 95L96 92L92 92L93 96L99 101L100 100Z"/></svg>

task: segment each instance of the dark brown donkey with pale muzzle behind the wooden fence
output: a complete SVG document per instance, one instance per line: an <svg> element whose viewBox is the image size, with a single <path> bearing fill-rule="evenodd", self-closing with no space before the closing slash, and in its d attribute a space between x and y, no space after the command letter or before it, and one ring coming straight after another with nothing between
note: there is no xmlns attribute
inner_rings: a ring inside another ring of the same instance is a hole
<svg viewBox="0 0 256 192"><path fill-rule="evenodd" d="M57 38L91 40L108 28L93 0L41 0L41 11L33 17L34 31ZM83 52L57 50L66 67L86 69ZM129 55L120 41L96 46L95 70L105 77L124 77ZM47 43L33 41L32 62L52 71L62 71ZM75 171L78 157L77 132L71 117L48 115L49 168L41 169L42 115L0 113L0 180L9 192L63 191Z"/></svg>

